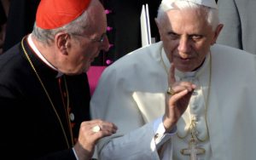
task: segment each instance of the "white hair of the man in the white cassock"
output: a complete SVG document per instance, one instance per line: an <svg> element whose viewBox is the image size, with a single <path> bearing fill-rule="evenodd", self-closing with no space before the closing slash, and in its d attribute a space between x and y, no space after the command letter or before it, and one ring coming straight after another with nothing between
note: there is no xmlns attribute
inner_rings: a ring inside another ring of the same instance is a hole
<svg viewBox="0 0 256 160"><path fill-rule="evenodd" d="M197 3L191 3L185 0L183 1L163 0L162 3L160 3L156 20L160 23L160 21L163 20L163 17L166 16L166 12L171 9L203 9L207 13L205 18L208 24L212 26L213 31L217 28L219 24L218 9L213 9Z"/></svg>

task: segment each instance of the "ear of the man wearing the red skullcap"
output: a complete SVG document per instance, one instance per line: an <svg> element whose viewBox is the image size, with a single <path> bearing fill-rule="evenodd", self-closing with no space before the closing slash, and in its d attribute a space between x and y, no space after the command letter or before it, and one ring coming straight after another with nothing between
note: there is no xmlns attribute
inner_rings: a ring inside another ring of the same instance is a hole
<svg viewBox="0 0 256 160"><path fill-rule="evenodd" d="M62 54L67 54L70 35L66 32L59 32L55 35L55 45Z"/></svg>

